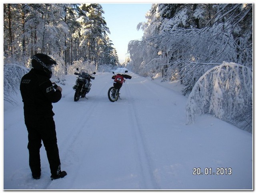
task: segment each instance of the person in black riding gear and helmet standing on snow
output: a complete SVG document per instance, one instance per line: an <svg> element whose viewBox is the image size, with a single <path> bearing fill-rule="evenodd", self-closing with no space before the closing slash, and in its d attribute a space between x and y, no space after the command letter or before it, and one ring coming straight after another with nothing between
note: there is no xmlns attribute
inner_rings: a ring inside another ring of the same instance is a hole
<svg viewBox="0 0 256 193"><path fill-rule="evenodd" d="M62 97L62 88L52 85L52 65L57 65L51 57L38 53L32 57L32 69L22 77L20 93L24 103L24 120L28 130L29 166L34 179L40 179L40 148L42 142L50 165L51 179L67 175L60 169L52 102Z"/></svg>

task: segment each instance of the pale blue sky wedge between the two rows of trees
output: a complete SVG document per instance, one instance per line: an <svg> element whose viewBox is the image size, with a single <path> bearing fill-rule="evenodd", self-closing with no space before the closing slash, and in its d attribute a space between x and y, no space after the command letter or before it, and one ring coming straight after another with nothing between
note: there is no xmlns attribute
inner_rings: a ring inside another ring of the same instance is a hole
<svg viewBox="0 0 256 193"><path fill-rule="evenodd" d="M110 30L108 36L116 48L120 63L127 56L129 41L141 39L143 31L137 31L140 22L146 22L146 12L151 8L151 3L100 3L103 17Z"/></svg>

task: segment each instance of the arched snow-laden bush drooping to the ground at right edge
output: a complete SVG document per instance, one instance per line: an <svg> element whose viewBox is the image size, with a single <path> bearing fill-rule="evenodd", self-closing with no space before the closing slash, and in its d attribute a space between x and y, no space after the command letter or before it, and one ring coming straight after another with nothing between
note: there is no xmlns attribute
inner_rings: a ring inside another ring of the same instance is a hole
<svg viewBox="0 0 256 193"><path fill-rule="evenodd" d="M187 123L205 113L252 131L252 69L223 62L202 75L188 96Z"/></svg>

